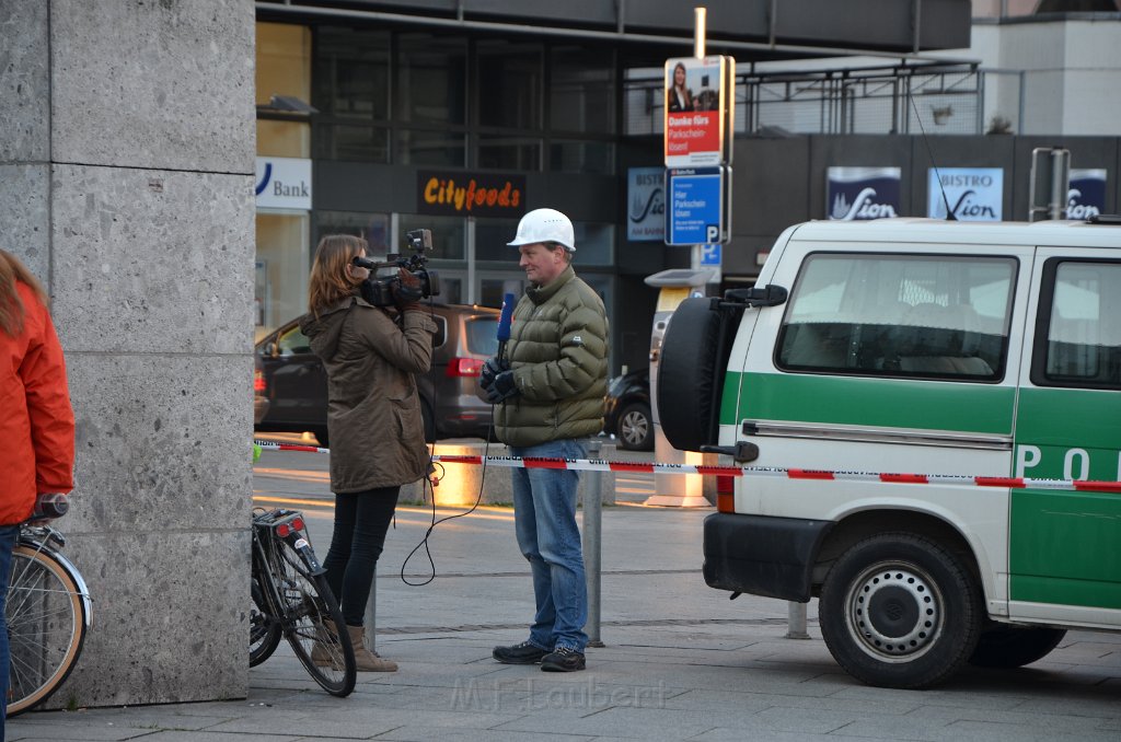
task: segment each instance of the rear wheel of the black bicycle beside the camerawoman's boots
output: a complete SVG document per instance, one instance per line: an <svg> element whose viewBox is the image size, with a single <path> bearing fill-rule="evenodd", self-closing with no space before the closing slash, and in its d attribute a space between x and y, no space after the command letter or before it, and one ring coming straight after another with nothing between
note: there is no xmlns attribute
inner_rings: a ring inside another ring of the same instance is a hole
<svg viewBox="0 0 1121 742"><path fill-rule="evenodd" d="M272 600L279 603L274 606L275 613L285 638L324 690L349 696L358 678L354 648L326 578L313 574L299 551L285 539L269 539L265 550L276 587ZM325 621L331 622L331 628L343 627L343 630L330 630ZM316 647L319 651L315 651ZM324 652L325 661L317 662Z"/></svg>

